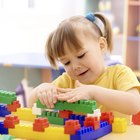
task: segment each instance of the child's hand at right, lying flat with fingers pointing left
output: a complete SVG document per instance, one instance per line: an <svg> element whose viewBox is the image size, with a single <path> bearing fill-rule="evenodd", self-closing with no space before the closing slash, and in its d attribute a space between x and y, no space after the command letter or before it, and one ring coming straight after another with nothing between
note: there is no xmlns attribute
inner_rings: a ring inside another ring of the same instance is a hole
<svg viewBox="0 0 140 140"><path fill-rule="evenodd" d="M93 99L92 88L91 85L84 85L77 81L76 88L74 89L57 88L57 91L60 92L60 94L57 95L57 99L67 102L76 102L83 99L90 100Z"/></svg>

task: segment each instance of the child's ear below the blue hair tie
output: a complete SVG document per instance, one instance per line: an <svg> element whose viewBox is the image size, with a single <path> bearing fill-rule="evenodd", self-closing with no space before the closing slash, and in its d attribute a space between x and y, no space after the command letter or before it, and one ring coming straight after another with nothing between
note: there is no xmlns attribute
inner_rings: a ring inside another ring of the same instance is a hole
<svg viewBox="0 0 140 140"><path fill-rule="evenodd" d="M103 53L107 51L107 41L104 37L99 38L99 46Z"/></svg>

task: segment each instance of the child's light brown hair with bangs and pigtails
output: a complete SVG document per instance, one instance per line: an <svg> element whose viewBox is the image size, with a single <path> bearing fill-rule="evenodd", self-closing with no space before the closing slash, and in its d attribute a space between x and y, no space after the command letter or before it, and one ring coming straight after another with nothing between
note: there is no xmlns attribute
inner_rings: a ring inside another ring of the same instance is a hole
<svg viewBox="0 0 140 140"><path fill-rule="evenodd" d="M53 68L58 68L57 61L65 55L66 47L71 51L78 51L82 48L78 31L82 31L86 36L92 36L93 39L104 37L107 41L107 50L112 51L112 29L108 19L101 13L94 13L94 16L103 23L104 33L96 23L84 16L74 16L62 21L57 29L49 35L45 45L45 55Z"/></svg>

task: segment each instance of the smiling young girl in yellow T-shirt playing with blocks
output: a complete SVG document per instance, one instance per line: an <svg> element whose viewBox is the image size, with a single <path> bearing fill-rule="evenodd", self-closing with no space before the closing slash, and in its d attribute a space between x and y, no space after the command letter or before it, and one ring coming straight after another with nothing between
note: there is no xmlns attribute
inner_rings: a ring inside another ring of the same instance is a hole
<svg viewBox="0 0 140 140"><path fill-rule="evenodd" d="M62 21L48 38L46 55L52 67L60 62L66 72L34 88L30 107L37 99L48 108L57 100L88 99L96 100L101 111L114 111L117 116L138 113L140 83L135 74L124 65L104 65L104 54L112 48L111 26L101 13Z"/></svg>

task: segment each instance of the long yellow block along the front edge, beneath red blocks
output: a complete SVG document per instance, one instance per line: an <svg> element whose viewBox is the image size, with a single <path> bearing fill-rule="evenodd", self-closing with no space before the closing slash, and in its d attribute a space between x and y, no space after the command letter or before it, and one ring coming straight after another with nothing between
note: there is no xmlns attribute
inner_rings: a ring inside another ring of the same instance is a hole
<svg viewBox="0 0 140 140"><path fill-rule="evenodd" d="M64 127L60 126L49 126L44 132L40 132L33 131L32 124L16 124L14 129L9 128L9 134L28 140L70 140L70 135L64 134Z"/></svg>

